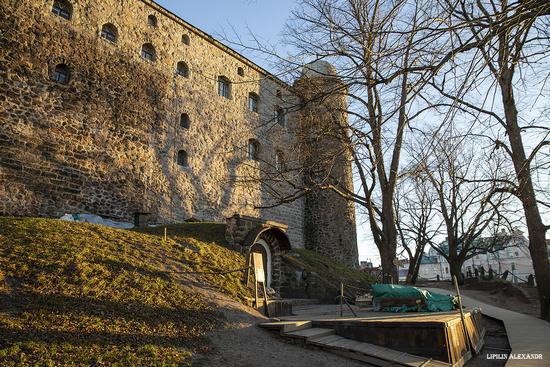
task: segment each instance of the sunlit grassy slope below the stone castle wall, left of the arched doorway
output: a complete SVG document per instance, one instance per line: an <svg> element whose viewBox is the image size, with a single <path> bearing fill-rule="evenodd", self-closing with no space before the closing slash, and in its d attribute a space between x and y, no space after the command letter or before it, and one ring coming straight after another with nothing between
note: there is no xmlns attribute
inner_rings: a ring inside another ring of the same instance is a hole
<svg viewBox="0 0 550 367"><path fill-rule="evenodd" d="M164 241L162 228L0 217L0 365L189 365L222 315L164 270L242 266L221 226L171 226ZM247 293L240 274L199 277Z"/></svg>

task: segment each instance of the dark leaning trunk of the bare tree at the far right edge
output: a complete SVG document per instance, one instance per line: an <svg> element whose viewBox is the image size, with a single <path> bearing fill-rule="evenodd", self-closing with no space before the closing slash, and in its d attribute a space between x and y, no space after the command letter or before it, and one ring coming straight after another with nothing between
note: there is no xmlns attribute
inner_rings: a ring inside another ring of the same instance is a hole
<svg viewBox="0 0 550 367"><path fill-rule="evenodd" d="M550 262L546 249L546 228L537 206L533 181L531 179L531 162L525 156L525 149L518 125L518 111L512 87L513 75L509 69L499 79L502 94L506 132L512 151L512 162L516 173L518 188L516 196L523 205L525 222L529 235L529 252L535 269L537 290L540 300L540 316L550 321Z"/></svg>

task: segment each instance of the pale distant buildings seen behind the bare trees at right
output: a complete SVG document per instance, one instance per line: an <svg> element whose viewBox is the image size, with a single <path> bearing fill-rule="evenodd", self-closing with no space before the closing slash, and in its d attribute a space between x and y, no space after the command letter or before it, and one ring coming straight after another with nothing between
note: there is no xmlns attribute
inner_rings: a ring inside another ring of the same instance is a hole
<svg viewBox="0 0 550 367"><path fill-rule="evenodd" d="M502 236L501 238L498 238ZM496 239L496 240L495 240ZM475 276L475 270L481 273L481 267L485 270L485 275L489 274L489 269L493 269L496 275L508 271L507 279L512 282L526 282L530 274L535 274L533 263L529 254L529 242L521 231L515 231L511 235L501 233L497 237L485 237L478 240L479 243L498 243L494 252L479 253L466 260L462 266L462 273L467 275L469 272ZM440 245L445 249L445 242ZM550 257L550 242L547 241L548 253ZM400 263L399 280L404 281L407 276L408 261ZM449 263L436 250L430 248L422 257L420 269L418 272L419 280L441 280L451 279L451 270Z"/></svg>

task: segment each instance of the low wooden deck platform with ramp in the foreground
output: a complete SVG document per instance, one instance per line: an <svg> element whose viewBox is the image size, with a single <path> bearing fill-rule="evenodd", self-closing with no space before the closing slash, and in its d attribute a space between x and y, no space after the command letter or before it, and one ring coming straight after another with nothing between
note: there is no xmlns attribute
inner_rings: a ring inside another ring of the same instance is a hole
<svg viewBox="0 0 550 367"><path fill-rule="evenodd" d="M483 345L481 313L395 314L367 318L292 320L261 324L285 338L376 366L462 366Z"/></svg>

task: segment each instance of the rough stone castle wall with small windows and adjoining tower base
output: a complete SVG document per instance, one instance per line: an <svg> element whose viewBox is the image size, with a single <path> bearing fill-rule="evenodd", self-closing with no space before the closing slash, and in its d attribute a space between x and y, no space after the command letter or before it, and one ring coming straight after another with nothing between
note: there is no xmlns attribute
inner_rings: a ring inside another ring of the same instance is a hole
<svg viewBox="0 0 550 367"><path fill-rule="evenodd" d="M299 138L312 117L334 118L293 108L320 75L304 75L298 96L148 0L2 0L0 14L0 215L240 213L357 265L353 205L312 192L273 206L292 194L287 182L307 183L304 149L341 151L337 139ZM352 189L342 157L330 173Z"/></svg>

